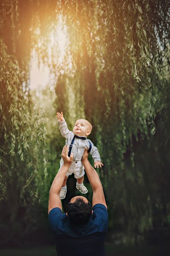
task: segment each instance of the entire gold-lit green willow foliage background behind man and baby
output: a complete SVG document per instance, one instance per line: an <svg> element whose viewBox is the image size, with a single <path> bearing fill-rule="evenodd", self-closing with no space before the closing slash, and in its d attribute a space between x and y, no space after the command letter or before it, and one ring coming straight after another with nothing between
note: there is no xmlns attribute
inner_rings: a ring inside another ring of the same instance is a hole
<svg viewBox="0 0 170 256"><path fill-rule="evenodd" d="M55 42L49 52L61 17L62 61ZM54 75L41 96L29 88L33 49ZM108 241L169 241L170 2L1 0L0 53L0 244L51 241L48 191L65 143L56 111L70 129L80 117L93 125ZM65 210L73 177L68 191Z"/></svg>

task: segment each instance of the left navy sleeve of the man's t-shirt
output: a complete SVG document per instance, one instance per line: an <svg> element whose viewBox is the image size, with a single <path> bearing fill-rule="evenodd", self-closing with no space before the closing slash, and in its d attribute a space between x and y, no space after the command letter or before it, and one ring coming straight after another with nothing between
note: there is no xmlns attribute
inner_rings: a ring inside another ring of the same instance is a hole
<svg viewBox="0 0 170 256"><path fill-rule="evenodd" d="M59 221L61 221L63 217L62 210L58 207L53 208L48 214L48 222L52 231L57 231L57 227L59 225Z"/></svg>

